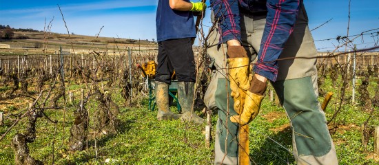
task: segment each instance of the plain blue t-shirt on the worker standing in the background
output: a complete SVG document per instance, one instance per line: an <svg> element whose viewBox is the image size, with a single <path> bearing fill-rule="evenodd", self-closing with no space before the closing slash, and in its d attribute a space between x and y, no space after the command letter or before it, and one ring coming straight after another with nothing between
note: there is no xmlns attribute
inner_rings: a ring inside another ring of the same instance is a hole
<svg viewBox="0 0 379 165"><path fill-rule="evenodd" d="M169 0L159 0L156 10L156 41L194 37L196 30L192 12L172 10Z"/></svg>

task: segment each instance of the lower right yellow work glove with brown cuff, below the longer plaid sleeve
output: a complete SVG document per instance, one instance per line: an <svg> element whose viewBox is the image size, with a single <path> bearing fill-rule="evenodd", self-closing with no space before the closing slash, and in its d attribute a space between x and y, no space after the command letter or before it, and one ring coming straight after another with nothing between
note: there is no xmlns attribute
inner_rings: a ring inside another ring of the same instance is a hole
<svg viewBox="0 0 379 165"><path fill-rule="evenodd" d="M267 89L267 83L262 82L253 76L250 88L246 93L245 104L243 111L240 115L234 115L230 117L230 121L237 122L238 124L245 125L252 122L252 120L258 115L260 109L260 103L262 102L263 94Z"/></svg>

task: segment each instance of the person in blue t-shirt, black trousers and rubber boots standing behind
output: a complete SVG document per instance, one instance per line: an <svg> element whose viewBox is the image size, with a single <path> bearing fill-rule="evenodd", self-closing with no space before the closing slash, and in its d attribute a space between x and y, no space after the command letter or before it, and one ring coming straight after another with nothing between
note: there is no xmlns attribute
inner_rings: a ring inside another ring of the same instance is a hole
<svg viewBox="0 0 379 165"><path fill-rule="evenodd" d="M192 110L194 83L196 81L192 39L196 38L193 12L203 12L205 3L189 0L159 0L156 10L156 36L158 41L158 66L156 68L156 104L158 120L192 121L202 124ZM178 80L178 100L182 114L169 109L168 88L175 70Z"/></svg>

